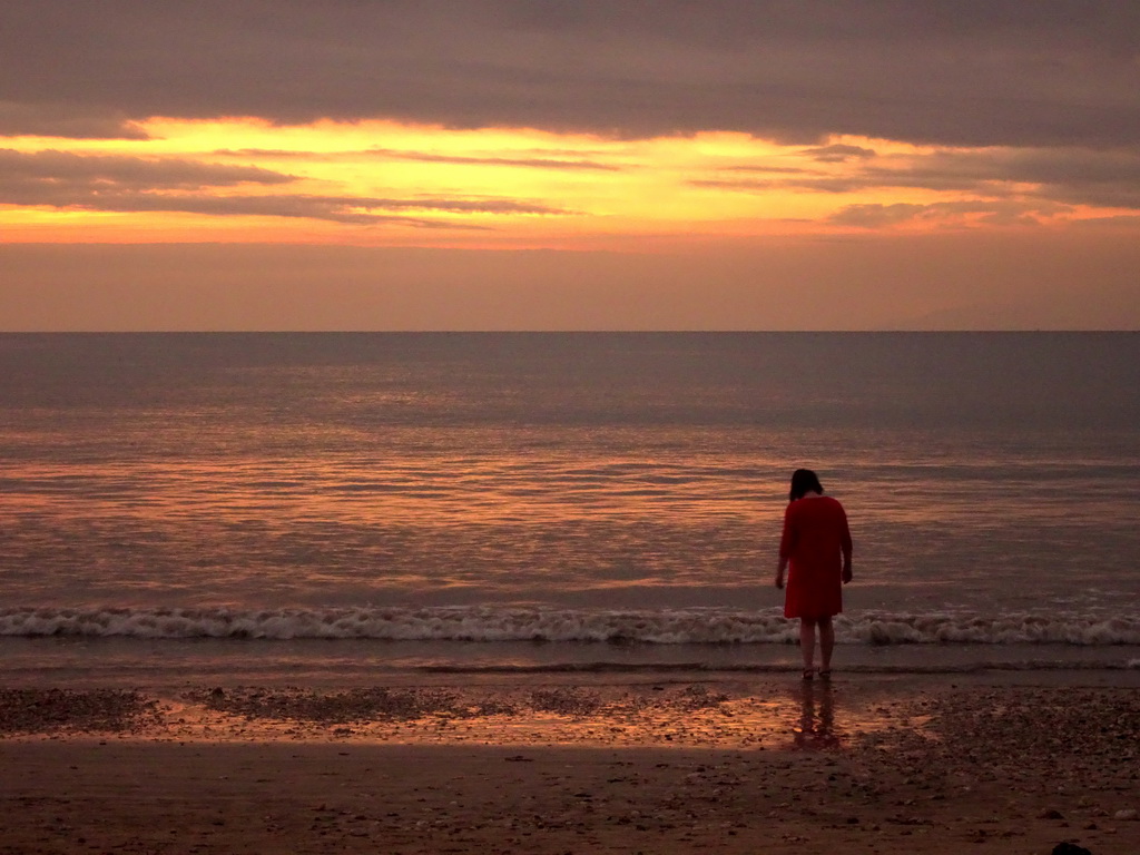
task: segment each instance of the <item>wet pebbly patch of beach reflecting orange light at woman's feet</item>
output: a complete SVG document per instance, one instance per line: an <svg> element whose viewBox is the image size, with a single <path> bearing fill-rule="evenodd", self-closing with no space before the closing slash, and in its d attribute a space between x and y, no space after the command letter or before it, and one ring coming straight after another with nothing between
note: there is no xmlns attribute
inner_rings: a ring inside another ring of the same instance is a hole
<svg viewBox="0 0 1140 855"><path fill-rule="evenodd" d="M842 750L913 723L825 681L788 685L213 689L157 699L131 738L211 742Z"/></svg>

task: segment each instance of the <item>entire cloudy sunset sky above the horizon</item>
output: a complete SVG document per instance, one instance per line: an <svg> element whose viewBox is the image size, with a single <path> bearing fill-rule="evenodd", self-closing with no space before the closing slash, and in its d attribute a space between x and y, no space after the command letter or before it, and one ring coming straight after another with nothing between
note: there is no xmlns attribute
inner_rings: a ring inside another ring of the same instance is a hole
<svg viewBox="0 0 1140 855"><path fill-rule="evenodd" d="M1132 0L0 0L0 329L1140 328Z"/></svg>

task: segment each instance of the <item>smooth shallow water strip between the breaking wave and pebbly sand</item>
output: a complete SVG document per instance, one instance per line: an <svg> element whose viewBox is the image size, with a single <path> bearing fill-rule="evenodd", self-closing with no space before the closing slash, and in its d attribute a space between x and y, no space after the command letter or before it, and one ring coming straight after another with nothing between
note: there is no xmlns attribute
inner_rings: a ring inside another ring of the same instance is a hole
<svg viewBox="0 0 1140 855"><path fill-rule="evenodd" d="M1140 644L837 645L845 679L1076 682L1140 687ZM781 682L798 645L135 637L0 637L0 685L133 687L430 682Z"/></svg>

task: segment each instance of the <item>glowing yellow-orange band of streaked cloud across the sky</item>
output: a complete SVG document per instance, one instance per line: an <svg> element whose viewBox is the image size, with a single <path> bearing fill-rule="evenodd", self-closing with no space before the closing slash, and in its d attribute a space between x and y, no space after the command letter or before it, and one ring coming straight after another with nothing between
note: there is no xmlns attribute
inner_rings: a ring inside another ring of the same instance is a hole
<svg viewBox="0 0 1140 855"><path fill-rule="evenodd" d="M1121 153L1058 156L743 133L611 139L394 122L141 123L11 138L7 239L645 249L658 242L1064 223L1140 209ZM1102 203L1102 204L1098 204Z"/></svg>

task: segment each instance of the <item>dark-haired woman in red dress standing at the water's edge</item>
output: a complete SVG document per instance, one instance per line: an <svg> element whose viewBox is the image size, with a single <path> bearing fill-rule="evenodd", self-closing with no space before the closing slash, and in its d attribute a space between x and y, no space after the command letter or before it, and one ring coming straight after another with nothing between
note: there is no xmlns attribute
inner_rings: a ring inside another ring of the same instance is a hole
<svg viewBox="0 0 1140 855"><path fill-rule="evenodd" d="M820 479L809 469L791 477L788 510L780 538L776 587L784 586L784 617L799 618L799 646L804 679L815 674L815 629L820 628L820 676L831 676L836 630L831 618L844 610L842 586L852 580L852 535L844 506L823 495Z"/></svg>

